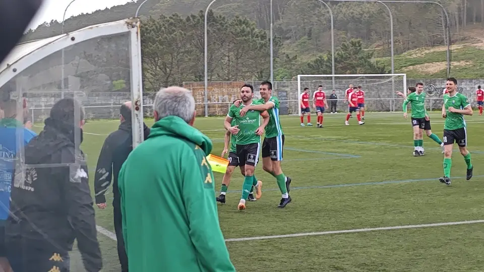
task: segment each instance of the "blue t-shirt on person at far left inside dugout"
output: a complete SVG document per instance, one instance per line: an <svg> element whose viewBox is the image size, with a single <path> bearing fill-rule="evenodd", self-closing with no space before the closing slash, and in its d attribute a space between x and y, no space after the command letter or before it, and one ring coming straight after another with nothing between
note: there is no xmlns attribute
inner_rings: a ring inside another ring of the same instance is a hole
<svg viewBox="0 0 484 272"><path fill-rule="evenodd" d="M23 133L22 148L36 136L34 131L23 127L17 120L0 120L0 220L6 220L9 216L10 192L17 160L17 131Z"/></svg>

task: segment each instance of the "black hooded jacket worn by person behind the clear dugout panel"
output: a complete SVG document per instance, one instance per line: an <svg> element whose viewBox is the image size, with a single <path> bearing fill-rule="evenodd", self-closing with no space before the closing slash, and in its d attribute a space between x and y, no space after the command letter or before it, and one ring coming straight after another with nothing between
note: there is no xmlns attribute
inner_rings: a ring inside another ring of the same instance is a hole
<svg viewBox="0 0 484 272"><path fill-rule="evenodd" d="M77 239L88 272L102 267L97 241L94 208L89 190L88 169L74 134L82 130L72 124L45 120L40 134L25 147L25 164L39 165L16 169L12 187L11 215L6 231L9 239L45 250L53 245L60 252L72 250ZM48 166L50 164L50 166ZM57 165L55 165L57 164Z"/></svg>

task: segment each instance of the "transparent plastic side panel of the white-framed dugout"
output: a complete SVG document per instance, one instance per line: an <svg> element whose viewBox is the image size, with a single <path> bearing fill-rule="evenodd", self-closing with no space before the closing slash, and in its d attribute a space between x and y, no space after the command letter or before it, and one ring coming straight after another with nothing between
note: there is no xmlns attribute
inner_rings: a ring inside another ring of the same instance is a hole
<svg viewBox="0 0 484 272"><path fill-rule="evenodd" d="M100 210L94 177L120 105L132 100L123 27L29 63L0 87L0 257L15 272L120 270L112 183Z"/></svg>

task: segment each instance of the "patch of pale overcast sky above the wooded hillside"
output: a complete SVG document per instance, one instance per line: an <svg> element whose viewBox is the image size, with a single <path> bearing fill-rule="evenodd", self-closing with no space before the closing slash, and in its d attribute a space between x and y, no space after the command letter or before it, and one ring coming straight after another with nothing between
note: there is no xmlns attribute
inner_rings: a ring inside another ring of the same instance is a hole
<svg viewBox="0 0 484 272"><path fill-rule="evenodd" d="M29 28L35 29L43 22L57 20L62 22L64 11L72 0L44 0L35 18L30 23ZM66 12L66 19L81 13L92 13L96 10L104 10L117 5L123 5L131 0L77 0L69 7Z"/></svg>

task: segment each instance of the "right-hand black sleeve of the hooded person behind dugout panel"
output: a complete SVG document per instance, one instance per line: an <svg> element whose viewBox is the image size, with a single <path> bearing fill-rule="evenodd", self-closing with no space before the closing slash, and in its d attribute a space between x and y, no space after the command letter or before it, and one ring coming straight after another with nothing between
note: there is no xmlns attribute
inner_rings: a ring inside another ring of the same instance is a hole
<svg viewBox="0 0 484 272"><path fill-rule="evenodd" d="M73 159L73 150L63 150L62 162L73 161ZM84 267L87 272L98 272L102 268L102 257L97 241L87 167L68 167L63 178L65 179L65 205L68 208Z"/></svg>

